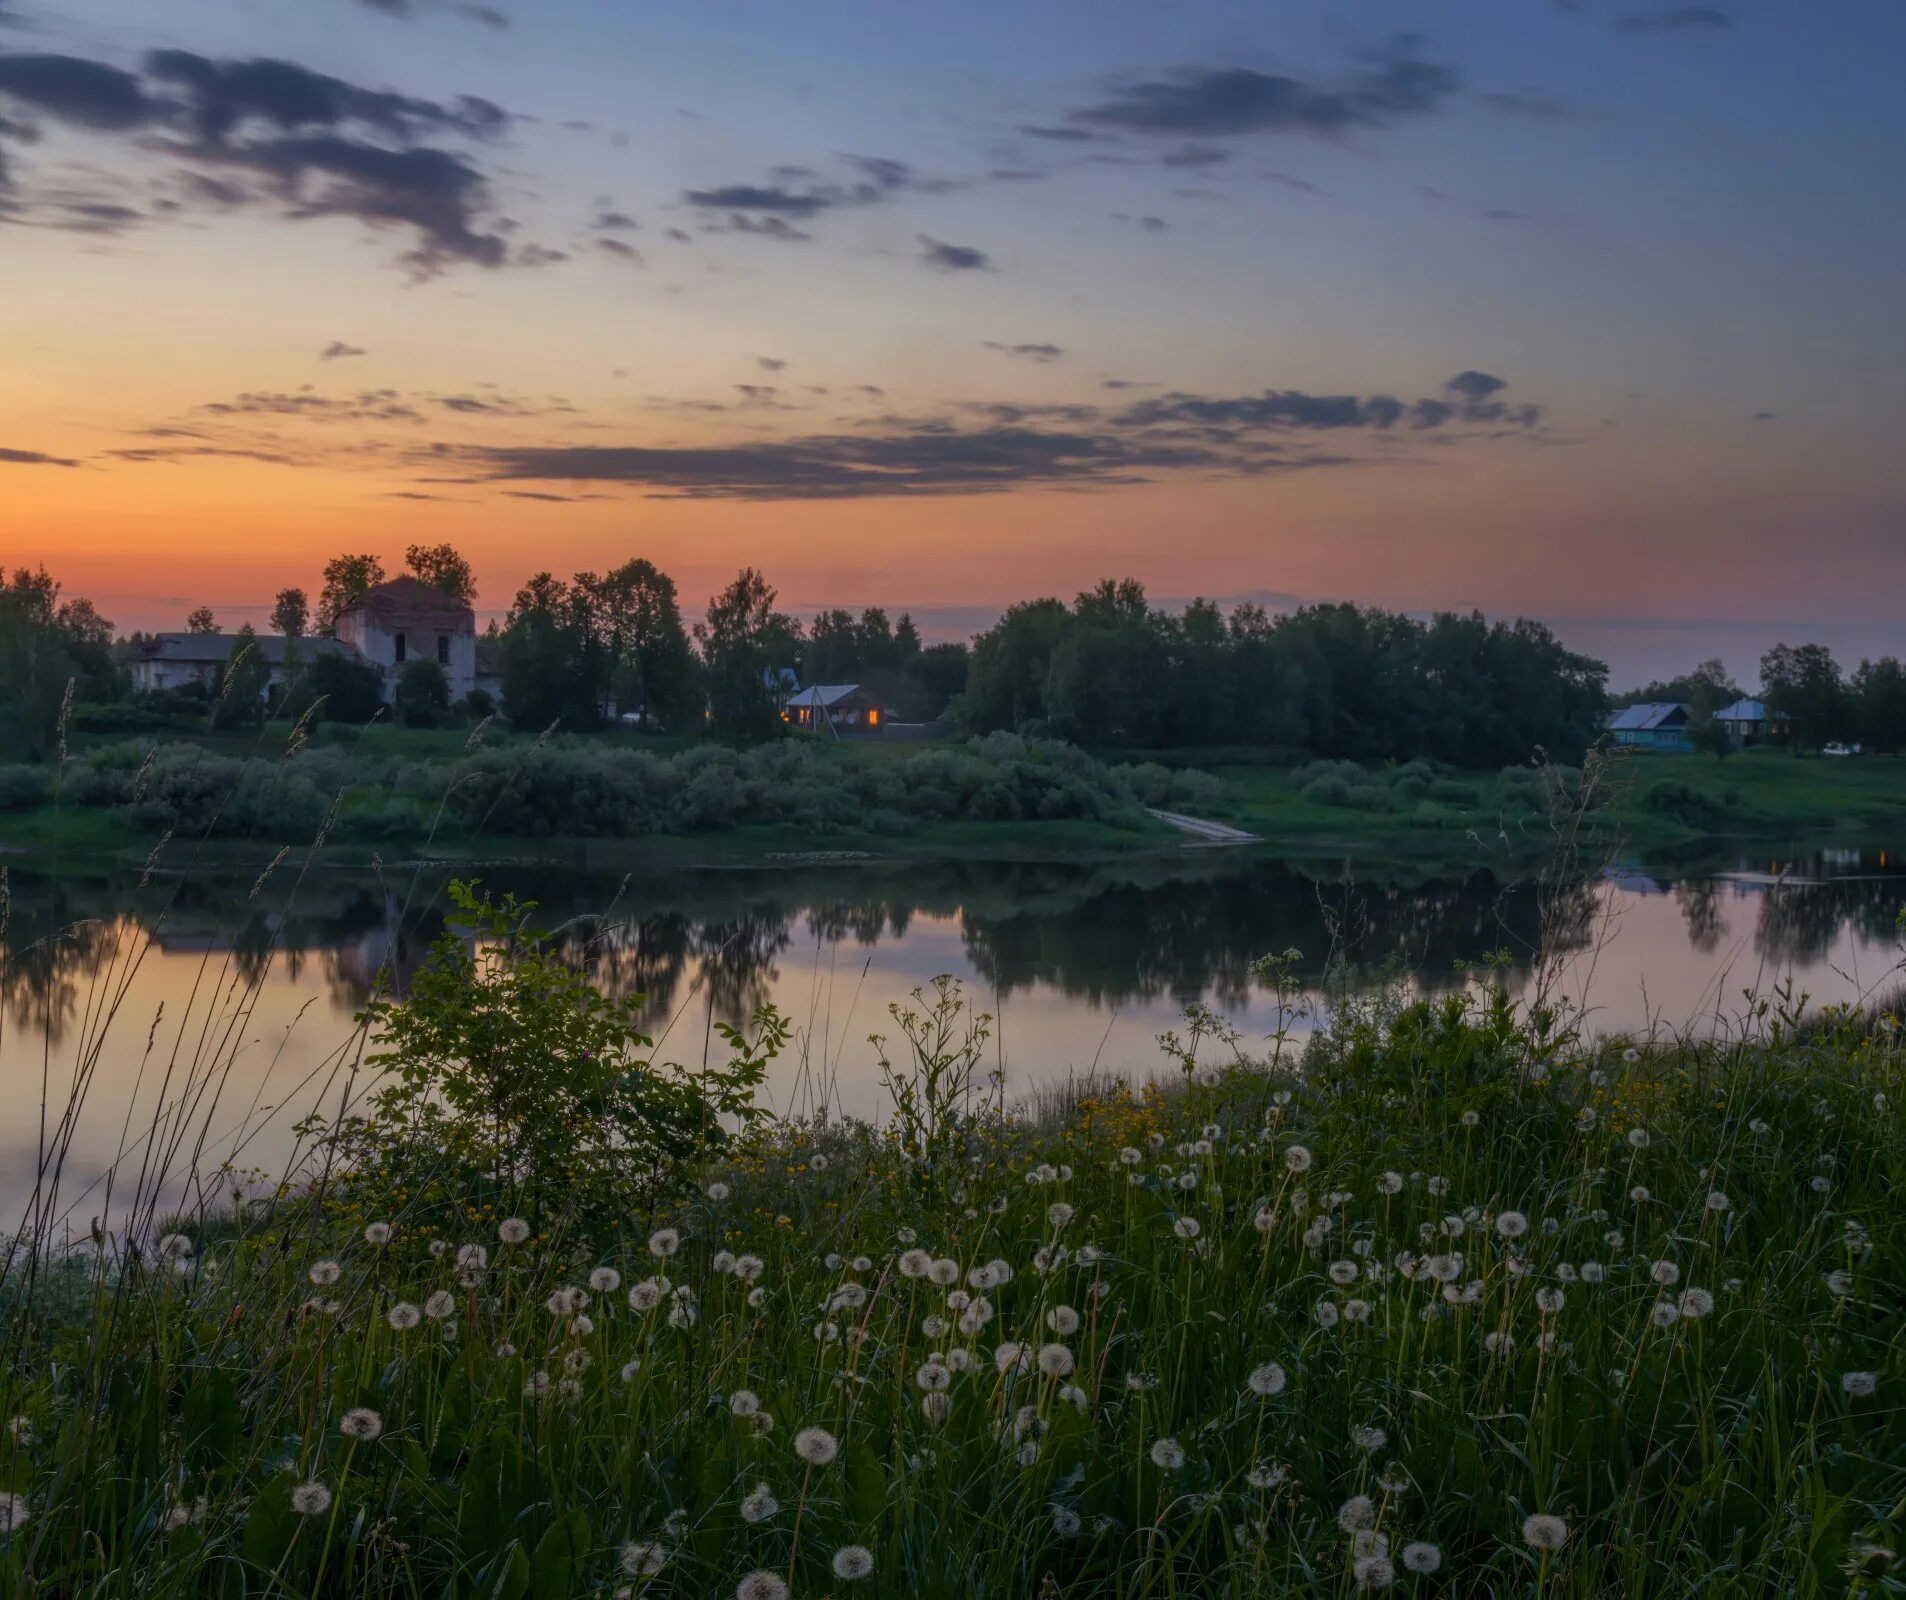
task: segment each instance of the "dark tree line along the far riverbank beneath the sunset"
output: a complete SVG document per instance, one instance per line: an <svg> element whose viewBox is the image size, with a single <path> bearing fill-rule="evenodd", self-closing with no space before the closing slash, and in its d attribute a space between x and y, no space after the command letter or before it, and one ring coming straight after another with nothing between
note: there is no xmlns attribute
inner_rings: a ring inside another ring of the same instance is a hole
<svg viewBox="0 0 1906 1600"><path fill-rule="evenodd" d="M476 599L469 561L448 544L410 545L404 572L467 605ZM303 587L280 589L269 627L284 639L282 687L273 688L263 652L248 648L257 637L248 624L236 629L225 679L196 690L213 702L213 721L313 708L337 721L377 715L381 675L307 641L335 635L343 610L385 578L377 555L345 553L322 566L314 599ZM219 622L200 606L187 627L215 633ZM63 599L44 570L0 574L0 744L44 757L69 694L82 709L126 702L128 666L143 643L137 633L114 639L91 603ZM890 618L879 606L802 622L753 566L690 622L675 580L631 559L568 580L537 572L488 624L482 646L509 719L536 730L591 730L619 713L640 728L760 738L783 727L795 685L858 683L900 721L943 717L963 734L1490 769L1536 749L1572 759L1601 734L1611 706L1607 667L1538 622L1479 612L1424 620L1355 605L1271 614L1193 601L1168 610L1134 580L1105 580L1069 605L1024 601L970 645L928 645L907 612ZM1713 713L1742 688L1719 662L1706 662L1620 696L1639 698L1689 702L1696 746L1725 749ZM1820 645L1778 645L1761 660L1761 698L1795 748L1843 738L1906 749L1906 669L1893 658L1849 675ZM499 709L482 690L452 706L448 679L429 658L404 664L393 700L410 725Z"/></svg>

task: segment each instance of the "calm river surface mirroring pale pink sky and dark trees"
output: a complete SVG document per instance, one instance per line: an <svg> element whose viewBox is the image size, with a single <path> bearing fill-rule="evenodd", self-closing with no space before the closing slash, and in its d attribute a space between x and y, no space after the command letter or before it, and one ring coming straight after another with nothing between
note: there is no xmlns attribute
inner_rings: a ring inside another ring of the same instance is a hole
<svg viewBox="0 0 1906 1600"><path fill-rule="evenodd" d="M1189 877L1081 868L934 881L923 870L884 879L724 875L690 887L705 904L658 910L658 891L642 896L639 921L597 925L574 919L604 892L598 879L560 885L545 873L536 885L578 959L608 988L658 1001L650 1028L665 1058L694 1064L703 1049L720 1051L713 1020L778 1005L797 1039L770 1072L766 1097L793 1114L820 1104L879 1114L867 1036L902 1047L888 1005L940 973L959 976L976 1009L995 1013L987 1066L1003 1064L1016 1093L1094 1068L1161 1070L1157 1036L1180 1024L1189 999L1208 999L1254 1049L1277 1026L1277 999L1243 978L1245 965L1296 946L1315 984L1332 931L1365 967L1431 990L1456 982L1462 955L1504 948L1515 957L1511 988L1529 995L1542 925L1534 891L1479 877L1346 892L1248 862L1206 862ZM194 1097L204 1093L204 1072L189 1072L194 1060L221 1064L200 1169L233 1159L282 1171L290 1123L313 1106L335 1110L353 1081L362 1091L362 1074L353 1079L349 1070L353 1015L393 950L381 889L330 885L322 906L252 908L242 925L225 919L223 933L215 910L173 906L158 940L139 921L154 921L149 906L99 894L36 904L30 885L21 894L15 879L0 1007L0 1215L17 1215L32 1186L42 1066L50 1098L63 1102L74 1064L95 1062L61 1180L78 1232L103 1209L103 1190L84 1192L112 1161L122 1127L137 1138L187 1083ZM233 900L242 904L242 894ZM1550 992L1586 1005L1592 1028L1618 1032L1733 1026L1746 1011L1744 990L1765 995L1782 980L1815 1003L1856 999L1896 982L1889 974L1902 900L1906 877L1874 873L1782 889L1752 875L1670 883L1612 873L1565 900L1561 927L1572 948ZM137 915L128 913L133 906ZM438 931L433 919L404 925L393 961L400 978ZM177 1062L170 1083L168 1062ZM175 1125L175 1169L200 1119ZM122 1165L114 1213L132 1177L133 1165Z"/></svg>

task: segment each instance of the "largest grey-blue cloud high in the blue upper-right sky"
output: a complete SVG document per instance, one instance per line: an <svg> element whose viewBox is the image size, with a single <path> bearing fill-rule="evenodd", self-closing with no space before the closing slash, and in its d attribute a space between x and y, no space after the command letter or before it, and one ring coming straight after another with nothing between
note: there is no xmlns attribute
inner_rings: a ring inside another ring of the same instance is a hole
<svg viewBox="0 0 1906 1600"><path fill-rule="evenodd" d="M1401 40L1386 57L1334 86L1218 67L1126 84L1098 105L1069 113L1073 126L1157 137L1241 133L1346 133L1435 111L1456 93L1452 67Z"/></svg>

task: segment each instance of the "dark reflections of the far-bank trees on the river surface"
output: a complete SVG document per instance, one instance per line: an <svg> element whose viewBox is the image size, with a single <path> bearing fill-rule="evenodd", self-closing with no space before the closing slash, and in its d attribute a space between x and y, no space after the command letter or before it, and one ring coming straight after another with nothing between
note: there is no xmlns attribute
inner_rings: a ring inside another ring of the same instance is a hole
<svg viewBox="0 0 1906 1600"><path fill-rule="evenodd" d="M1327 963L1407 971L1430 988L1508 950L1510 976L1580 950L1601 885L1504 885L1487 872L1412 883L1346 883L1256 856L1205 852L1128 862L907 862L881 866L677 872L625 881L602 873L492 870L490 892L539 902L536 919L564 955L616 995L642 994L654 1024L692 1003L738 1022L780 982L799 938L816 950L907 936L917 915L959 917L968 959L1003 992L1050 984L1104 1003L1212 997L1243 1005L1250 963L1296 948L1302 974ZM406 904L372 873L307 875L292 894L246 875L162 883L82 883L13 875L0 1005L55 1043L91 976L135 931L172 954L231 952L244 984L297 982L309 954L334 995L362 1005L381 973L402 994L444 931L440 896ZM1673 885L1691 944L1729 936L1727 885ZM429 900L429 904L421 904ZM1769 963L1822 959L1847 929L1893 944L1906 879L1797 883L1763 896L1755 948ZM160 919L160 912L164 917ZM273 967L271 963L282 963Z"/></svg>

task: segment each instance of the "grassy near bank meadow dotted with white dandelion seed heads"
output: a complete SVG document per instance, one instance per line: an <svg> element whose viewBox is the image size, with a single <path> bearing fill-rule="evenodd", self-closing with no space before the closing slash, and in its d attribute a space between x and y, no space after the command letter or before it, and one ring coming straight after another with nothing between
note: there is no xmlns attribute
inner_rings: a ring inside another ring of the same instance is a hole
<svg viewBox="0 0 1906 1600"><path fill-rule="evenodd" d="M320 1163L23 1243L4 1592L1898 1587L1896 1026L1195 1015L1166 1081L1014 1112L959 1005L896 1013L881 1127L680 1198Z"/></svg>

